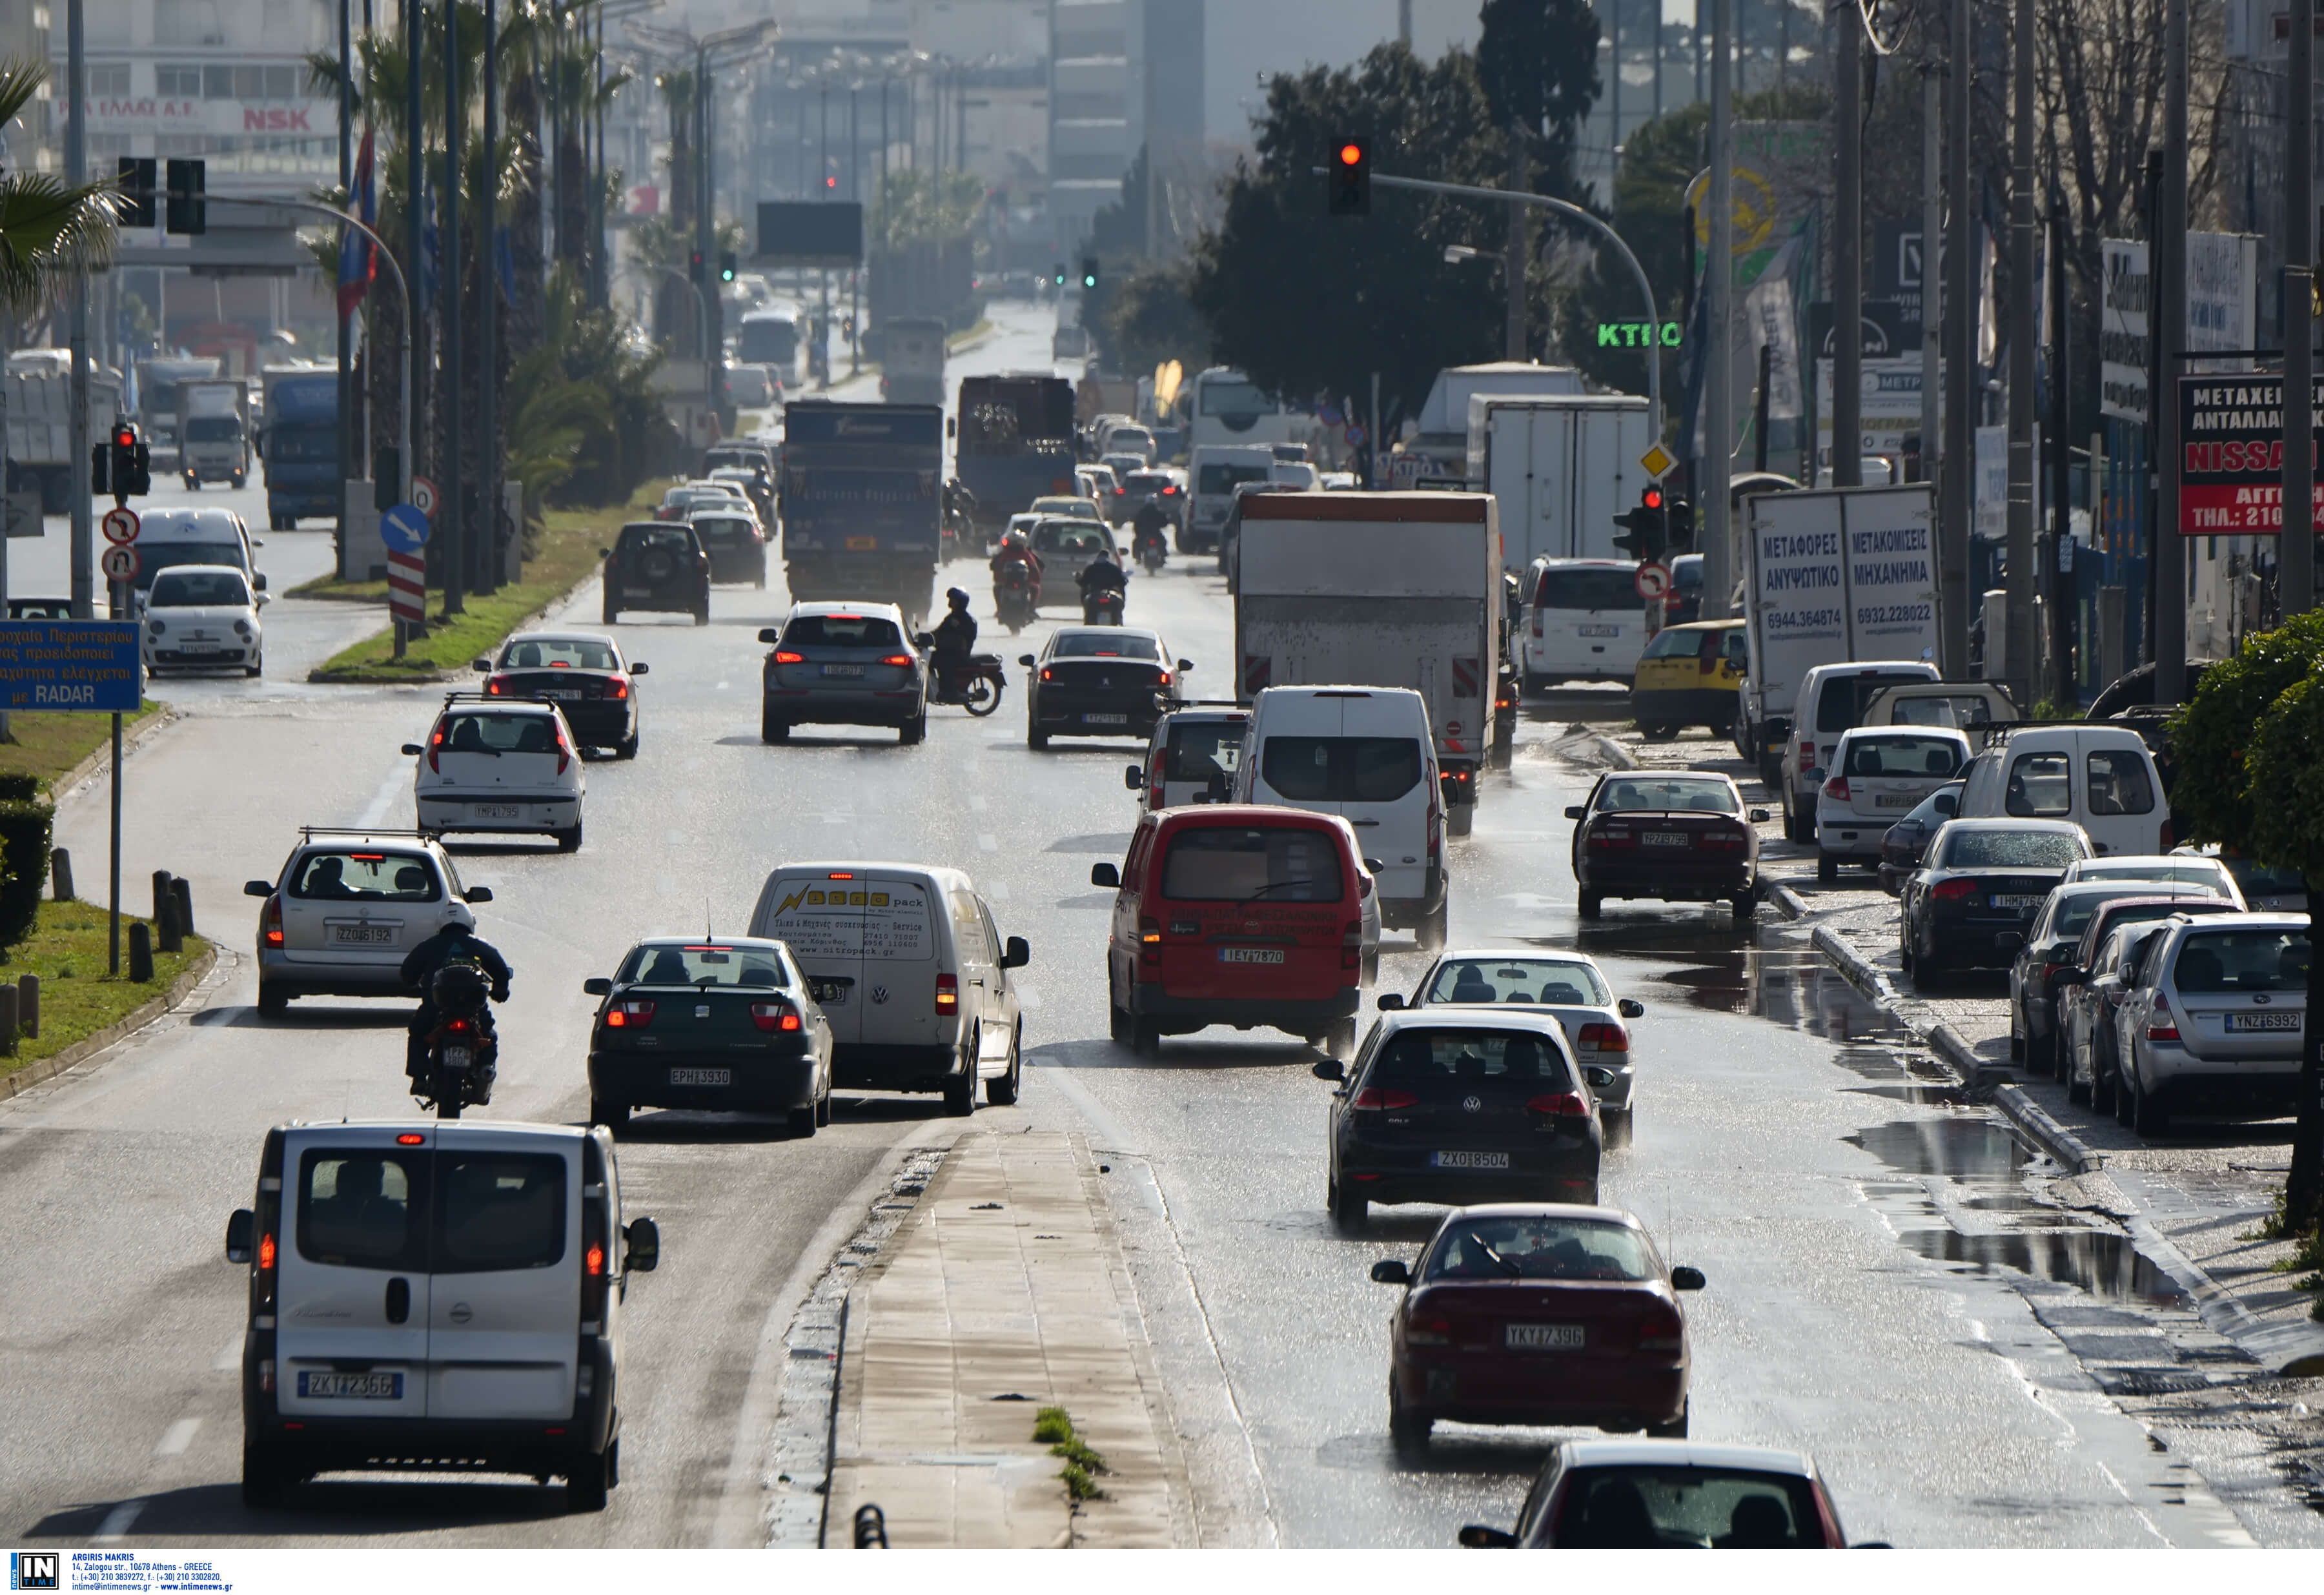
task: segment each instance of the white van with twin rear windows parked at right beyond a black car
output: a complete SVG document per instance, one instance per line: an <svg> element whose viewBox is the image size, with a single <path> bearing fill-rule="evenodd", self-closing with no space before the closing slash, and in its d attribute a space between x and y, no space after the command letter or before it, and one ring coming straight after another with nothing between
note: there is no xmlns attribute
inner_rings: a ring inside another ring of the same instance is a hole
<svg viewBox="0 0 2324 1595"><path fill-rule="evenodd" d="M2171 807L2154 756L2126 725L1996 728L1968 760L1961 818L2073 821L2099 856L2168 853Z"/></svg>

